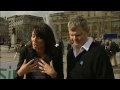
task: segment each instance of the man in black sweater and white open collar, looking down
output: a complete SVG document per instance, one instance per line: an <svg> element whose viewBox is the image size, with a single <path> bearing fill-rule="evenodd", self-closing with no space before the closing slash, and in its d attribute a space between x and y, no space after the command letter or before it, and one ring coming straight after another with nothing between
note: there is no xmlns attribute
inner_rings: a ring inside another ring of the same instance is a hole
<svg viewBox="0 0 120 90"><path fill-rule="evenodd" d="M67 54L68 79L114 79L110 59L104 48L89 37L87 21L74 16L68 22L72 48Z"/></svg>

